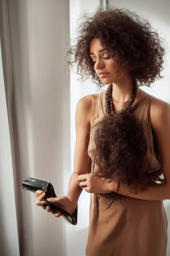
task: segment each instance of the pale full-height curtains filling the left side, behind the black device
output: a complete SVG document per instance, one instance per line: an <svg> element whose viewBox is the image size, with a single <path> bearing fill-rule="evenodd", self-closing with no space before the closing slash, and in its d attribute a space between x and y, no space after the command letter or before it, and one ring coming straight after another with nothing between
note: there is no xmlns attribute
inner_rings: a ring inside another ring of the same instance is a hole
<svg viewBox="0 0 170 256"><path fill-rule="evenodd" d="M28 177L66 193L70 90L69 1L0 1L0 234L3 256L64 256L65 222L35 205ZM7 119L8 118L8 119ZM4 223L4 224L2 224Z"/></svg>

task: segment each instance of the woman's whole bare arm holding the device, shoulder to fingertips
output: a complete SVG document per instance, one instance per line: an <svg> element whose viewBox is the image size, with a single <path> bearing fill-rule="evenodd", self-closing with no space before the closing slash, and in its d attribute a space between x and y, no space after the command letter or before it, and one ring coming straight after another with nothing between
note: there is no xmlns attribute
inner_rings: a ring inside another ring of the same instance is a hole
<svg viewBox="0 0 170 256"><path fill-rule="evenodd" d="M75 128L76 128L76 143L74 152L74 171L69 180L67 196L51 198L52 202L61 203L66 211L73 213L78 202L78 198L81 194L82 188L79 186L78 176L86 174L90 166L88 163L88 156L85 150L85 138L89 141L90 123L92 121L92 97L93 95L87 95L81 98L76 106L75 113ZM88 135L86 136L86 134ZM87 143L88 146L88 143ZM40 190L36 191L38 197L36 204L42 206L47 212L51 212L55 217L60 217L61 213L53 212L49 206L43 201L45 193Z"/></svg>

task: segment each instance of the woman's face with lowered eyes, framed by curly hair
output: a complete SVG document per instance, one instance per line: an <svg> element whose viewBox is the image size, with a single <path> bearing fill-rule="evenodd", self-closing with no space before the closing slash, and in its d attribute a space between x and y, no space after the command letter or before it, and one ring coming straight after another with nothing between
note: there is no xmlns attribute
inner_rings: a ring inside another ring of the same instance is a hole
<svg viewBox="0 0 170 256"><path fill-rule="evenodd" d="M90 56L94 62L94 69L103 84L116 83L128 73L127 68L121 69L111 58L109 51L100 45L100 40L97 38L90 43Z"/></svg>

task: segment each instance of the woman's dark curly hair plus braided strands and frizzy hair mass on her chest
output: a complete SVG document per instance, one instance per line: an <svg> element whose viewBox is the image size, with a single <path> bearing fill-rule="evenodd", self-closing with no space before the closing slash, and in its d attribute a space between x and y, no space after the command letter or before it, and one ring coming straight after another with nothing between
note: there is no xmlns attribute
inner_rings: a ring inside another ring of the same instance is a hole
<svg viewBox="0 0 170 256"><path fill-rule="evenodd" d="M147 142L141 121L130 112L135 100L137 87L150 86L156 79L162 78L165 47L156 30L151 29L149 21L128 9L98 9L92 16L83 15L78 27L76 45L69 48L67 61L73 67L77 63L77 74L81 80L89 76L99 87L103 86L97 76L93 60L90 57L90 43L94 38L108 49L111 57L120 67L128 68L133 79L133 91L126 107L113 113L111 93L112 85L106 92L107 117L96 124L94 134L95 147L92 158L95 159L100 177L117 180L120 183L146 188L159 181L162 170L147 173ZM158 156L159 157L159 156Z"/></svg>

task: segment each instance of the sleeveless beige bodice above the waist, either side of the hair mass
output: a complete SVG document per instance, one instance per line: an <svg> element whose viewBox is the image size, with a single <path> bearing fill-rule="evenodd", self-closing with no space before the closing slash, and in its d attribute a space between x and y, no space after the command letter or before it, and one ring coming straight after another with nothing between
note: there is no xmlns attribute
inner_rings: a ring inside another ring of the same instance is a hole
<svg viewBox="0 0 170 256"><path fill-rule="evenodd" d="M90 141L88 145L88 154L91 158L92 156L92 149L94 146L94 132L95 132L95 127L96 122L98 122L103 116L106 116L106 108L105 108L105 93L106 90L99 93L97 95L97 99L95 100L95 111L94 111L94 119L91 125L91 130L90 130ZM136 115L137 118L140 118L143 124L144 128L144 134L147 140L147 145L148 145L148 151L147 151L147 157L148 157L148 162L149 162L149 169L148 173L157 171L161 168L161 163L160 163L160 158L156 146L156 139L154 135L154 131L151 126L151 120L150 120L150 104L154 96L148 94L142 101L142 103L133 111ZM92 166L91 172L94 172L93 168L95 169L95 166Z"/></svg>

